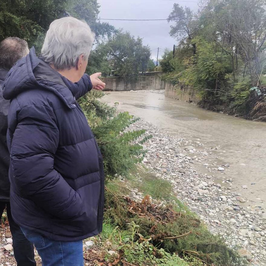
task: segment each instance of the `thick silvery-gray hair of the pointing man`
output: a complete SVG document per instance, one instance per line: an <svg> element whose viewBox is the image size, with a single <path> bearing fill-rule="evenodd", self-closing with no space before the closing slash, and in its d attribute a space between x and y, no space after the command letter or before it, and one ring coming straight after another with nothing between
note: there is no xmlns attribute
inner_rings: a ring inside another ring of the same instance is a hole
<svg viewBox="0 0 266 266"><path fill-rule="evenodd" d="M89 57L94 37L85 21L73 17L57 19L46 33L41 57L56 69L76 67L80 55Z"/></svg>

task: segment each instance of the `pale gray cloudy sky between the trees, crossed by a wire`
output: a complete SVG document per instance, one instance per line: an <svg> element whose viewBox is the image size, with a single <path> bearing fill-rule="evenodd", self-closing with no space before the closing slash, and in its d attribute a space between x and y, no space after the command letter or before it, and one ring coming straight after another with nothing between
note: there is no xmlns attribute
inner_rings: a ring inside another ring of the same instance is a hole
<svg viewBox="0 0 266 266"><path fill-rule="evenodd" d="M166 19L176 2L188 6L194 11L198 9L199 0L98 0L101 5L99 18L112 19ZM104 20L102 21L104 22ZM152 50L152 58L159 58L165 48L173 49L175 39L170 37L170 24L167 21L105 21L116 28L123 28L135 37L143 38Z"/></svg>

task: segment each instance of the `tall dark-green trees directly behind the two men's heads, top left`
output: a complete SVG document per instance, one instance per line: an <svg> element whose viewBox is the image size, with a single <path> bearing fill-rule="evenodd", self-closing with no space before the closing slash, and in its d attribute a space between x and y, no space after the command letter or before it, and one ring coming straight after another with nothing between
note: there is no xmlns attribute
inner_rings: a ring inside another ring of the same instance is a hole
<svg viewBox="0 0 266 266"><path fill-rule="evenodd" d="M84 19L95 32L97 42L111 38L117 30L108 23L100 23L98 14L97 0L0 1L0 41L16 36L40 51L50 23L69 15Z"/></svg>

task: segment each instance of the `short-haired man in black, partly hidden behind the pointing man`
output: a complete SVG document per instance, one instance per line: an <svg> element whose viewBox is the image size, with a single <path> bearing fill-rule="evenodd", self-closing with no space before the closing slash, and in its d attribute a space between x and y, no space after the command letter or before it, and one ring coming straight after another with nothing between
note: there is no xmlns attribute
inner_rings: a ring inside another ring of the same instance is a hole
<svg viewBox="0 0 266 266"><path fill-rule="evenodd" d="M14 257L18 266L35 266L36 262L33 244L25 238L18 224L14 222L10 210L9 152L6 141L7 115L10 103L3 98L2 86L8 71L28 53L27 42L17 37L9 37L0 43L0 218L6 208L13 237Z"/></svg>

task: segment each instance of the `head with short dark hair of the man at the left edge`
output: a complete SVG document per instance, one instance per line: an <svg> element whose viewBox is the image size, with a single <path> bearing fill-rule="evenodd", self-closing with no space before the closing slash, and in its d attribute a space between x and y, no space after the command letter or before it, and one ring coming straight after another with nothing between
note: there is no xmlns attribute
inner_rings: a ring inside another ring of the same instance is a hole
<svg viewBox="0 0 266 266"><path fill-rule="evenodd" d="M26 56L28 44L18 37L8 37L0 43L0 68L11 69L14 64Z"/></svg>

